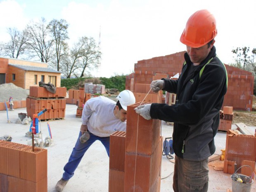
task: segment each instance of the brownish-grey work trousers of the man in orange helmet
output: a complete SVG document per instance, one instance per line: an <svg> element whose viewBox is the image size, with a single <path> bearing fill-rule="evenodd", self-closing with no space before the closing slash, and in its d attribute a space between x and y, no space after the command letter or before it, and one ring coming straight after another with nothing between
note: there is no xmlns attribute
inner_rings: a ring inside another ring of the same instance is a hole
<svg viewBox="0 0 256 192"><path fill-rule="evenodd" d="M188 161L175 156L174 192L207 192L208 173L208 158L202 161Z"/></svg>

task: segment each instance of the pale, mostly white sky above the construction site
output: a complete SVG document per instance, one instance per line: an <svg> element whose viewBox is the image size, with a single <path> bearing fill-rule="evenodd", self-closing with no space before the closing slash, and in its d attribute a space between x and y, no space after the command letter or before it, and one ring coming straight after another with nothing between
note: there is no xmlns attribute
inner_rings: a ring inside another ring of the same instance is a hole
<svg viewBox="0 0 256 192"><path fill-rule="evenodd" d="M0 41L9 40L9 27L65 19L70 46L83 36L100 41L101 65L90 73L109 78L132 73L137 61L185 51L187 19L208 9L216 18L217 55L230 64L233 49L256 48L255 8L251 0L0 0Z"/></svg>

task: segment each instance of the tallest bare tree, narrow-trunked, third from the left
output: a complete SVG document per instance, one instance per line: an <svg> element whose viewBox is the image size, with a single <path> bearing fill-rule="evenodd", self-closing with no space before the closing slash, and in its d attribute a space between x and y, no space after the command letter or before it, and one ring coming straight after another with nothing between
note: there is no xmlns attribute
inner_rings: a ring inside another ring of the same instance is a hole
<svg viewBox="0 0 256 192"><path fill-rule="evenodd" d="M65 50L68 47L68 44L65 42L67 39L69 39L68 36L68 29L69 24L67 24L66 20L64 19L53 19L48 24L47 28L50 30L50 35L52 36L52 39L54 40L54 46L55 46L55 59L52 60L52 63L56 67L57 71L60 71L61 69L61 59L62 56L65 55ZM56 63L55 63L56 61Z"/></svg>

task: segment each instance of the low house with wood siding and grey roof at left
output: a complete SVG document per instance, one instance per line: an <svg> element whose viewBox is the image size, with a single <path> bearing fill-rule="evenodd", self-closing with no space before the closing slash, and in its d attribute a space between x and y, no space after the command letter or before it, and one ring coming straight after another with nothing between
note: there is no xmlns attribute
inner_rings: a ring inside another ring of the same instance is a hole
<svg viewBox="0 0 256 192"><path fill-rule="evenodd" d="M60 87L61 72L48 68L47 63L0 57L0 84L13 83L29 89L39 81Z"/></svg>

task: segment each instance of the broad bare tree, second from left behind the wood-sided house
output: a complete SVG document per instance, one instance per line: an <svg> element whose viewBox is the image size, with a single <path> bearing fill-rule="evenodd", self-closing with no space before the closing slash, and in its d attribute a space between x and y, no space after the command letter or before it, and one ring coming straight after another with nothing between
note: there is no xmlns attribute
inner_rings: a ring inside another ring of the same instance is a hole
<svg viewBox="0 0 256 192"><path fill-rule="evenodd" d="M40 21L33 22L26 26L28 34L28 49L31 57L37 57L41 62L49 62L53 57L54 40L49 36L46 21L42 17Z"/></svg>

